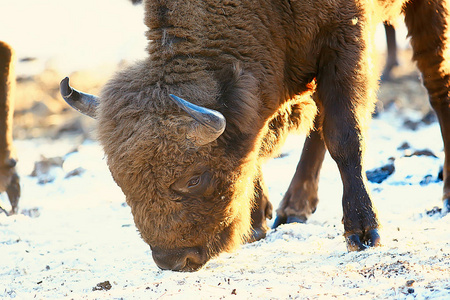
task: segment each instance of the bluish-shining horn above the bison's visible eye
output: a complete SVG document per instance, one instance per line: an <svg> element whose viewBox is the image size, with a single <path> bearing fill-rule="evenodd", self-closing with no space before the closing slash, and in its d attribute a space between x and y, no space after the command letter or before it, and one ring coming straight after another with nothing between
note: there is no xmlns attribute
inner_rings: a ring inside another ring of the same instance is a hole
<svg viewBox="0 0 450 300"><path fill-rule="evenodd" d="M200 145L216 140L224 132L226 120L220 112L192 104L172 94L170 98L201 125L196 130L199 136L193 136Z"/></svg>

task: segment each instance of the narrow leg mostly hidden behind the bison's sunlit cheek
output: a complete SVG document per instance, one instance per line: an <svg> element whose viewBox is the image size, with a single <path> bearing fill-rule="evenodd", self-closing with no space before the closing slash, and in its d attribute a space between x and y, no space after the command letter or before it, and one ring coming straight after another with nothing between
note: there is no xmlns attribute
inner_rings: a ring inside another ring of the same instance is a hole
<svg viewBox="0 0 450 300"><path fill-rule="evenodd" d="M266 237L269 230L266 219L272 219L272 203L269 201L267 186L263 181L261 171L255 182L255 204L251 217L252 234L247 240L249 243Z"/></svg>

